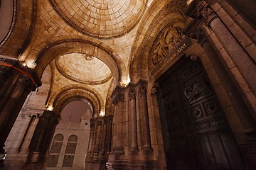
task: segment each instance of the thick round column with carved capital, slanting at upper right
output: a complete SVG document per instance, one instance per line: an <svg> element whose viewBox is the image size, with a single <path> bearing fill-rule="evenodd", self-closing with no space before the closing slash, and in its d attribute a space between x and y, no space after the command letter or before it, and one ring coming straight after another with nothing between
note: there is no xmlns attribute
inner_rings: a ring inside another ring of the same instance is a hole
<svg viewBox="0 0 256 170"><path fill-rule="evenodd" d="M240 74L245 79L247 85L252 90L253 94L256 95L256 64L247 55L247 52L243 50L238 41L234 38L232 33L226 28L220 18L216 15L206 1L193 1L190 5L190 8L187 12L188 16L197 18L206 23L215 35L221 44L225 48L225 51L228 52L228 55L233 60L235 66L238 68Z"/></svg>

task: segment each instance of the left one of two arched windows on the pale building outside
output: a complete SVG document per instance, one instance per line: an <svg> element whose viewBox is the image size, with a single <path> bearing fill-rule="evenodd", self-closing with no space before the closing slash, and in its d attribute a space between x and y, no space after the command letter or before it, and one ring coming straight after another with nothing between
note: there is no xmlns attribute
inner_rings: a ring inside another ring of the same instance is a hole
<svg viewBox="0 0 256 170"><path fill-rule="evenodd" d="M50 148L50 159L49 159L49 167L56 167L58 164L58 158L60 156L60 149L63 145L63 135L57 134L53 138L53 144Z"/></svg>

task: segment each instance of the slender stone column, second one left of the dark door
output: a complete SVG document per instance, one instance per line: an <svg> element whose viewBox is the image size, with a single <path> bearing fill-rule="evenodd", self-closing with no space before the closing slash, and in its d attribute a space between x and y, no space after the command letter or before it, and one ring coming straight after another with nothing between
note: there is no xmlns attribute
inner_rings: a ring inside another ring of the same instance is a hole
<svg viewBox="0 0 256 170"><path fill-rule="evenodd" d="M150 130L149 130L149 113L146 102L146 88L144 86L139 87L141 102L142 102L142 121L144 124L144 149L151 150Z"/></svg>

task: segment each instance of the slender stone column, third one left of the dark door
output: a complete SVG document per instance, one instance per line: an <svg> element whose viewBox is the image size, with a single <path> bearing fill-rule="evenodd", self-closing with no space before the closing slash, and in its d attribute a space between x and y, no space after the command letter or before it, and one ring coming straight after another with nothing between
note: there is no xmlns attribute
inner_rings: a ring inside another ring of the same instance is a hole
<svg viewBox="0 0 256 170"><path fill-rule="evenodd" d="M131 89L129 91L129 101L131 109L131 130L132 130L132 151L138 150L137 142L137 113L136 113L136 91Z"/></svg>

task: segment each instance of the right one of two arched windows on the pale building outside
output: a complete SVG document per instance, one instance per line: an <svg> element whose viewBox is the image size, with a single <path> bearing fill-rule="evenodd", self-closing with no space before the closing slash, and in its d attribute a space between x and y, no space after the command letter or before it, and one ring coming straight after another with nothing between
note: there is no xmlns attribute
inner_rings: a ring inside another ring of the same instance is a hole
<svg viewBox="0 0 256 170"><path fill-rule="evenodd" d="M78 137L76 135L71 135L68 138L68 145L65 150L65 156L63 160L63 167L72 167L75 157L75 148L78 143Z"/></svg>

